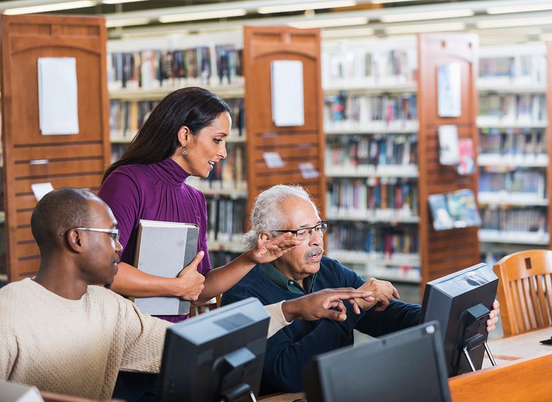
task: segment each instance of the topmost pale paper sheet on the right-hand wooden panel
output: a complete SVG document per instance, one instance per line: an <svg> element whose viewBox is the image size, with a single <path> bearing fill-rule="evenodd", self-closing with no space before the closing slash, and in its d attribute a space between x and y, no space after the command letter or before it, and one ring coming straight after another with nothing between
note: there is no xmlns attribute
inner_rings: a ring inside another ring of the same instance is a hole
<svg viewBox="0 0 552 402"><path fill-rule="evenodd" d="M439 117L462 115L460 64L437 67L437 114Z"/></svg>

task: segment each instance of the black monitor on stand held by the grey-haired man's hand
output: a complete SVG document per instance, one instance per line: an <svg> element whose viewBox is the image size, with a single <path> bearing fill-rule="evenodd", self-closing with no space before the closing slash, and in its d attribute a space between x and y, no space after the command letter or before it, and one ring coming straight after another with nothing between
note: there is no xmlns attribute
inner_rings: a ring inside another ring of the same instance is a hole
<svg viewBox="0 0 552 402"><path fill-rule="evenodd" d="M426 283L420 322L439 321L449 376L481 368L497 285L483 263Z"/></svg>

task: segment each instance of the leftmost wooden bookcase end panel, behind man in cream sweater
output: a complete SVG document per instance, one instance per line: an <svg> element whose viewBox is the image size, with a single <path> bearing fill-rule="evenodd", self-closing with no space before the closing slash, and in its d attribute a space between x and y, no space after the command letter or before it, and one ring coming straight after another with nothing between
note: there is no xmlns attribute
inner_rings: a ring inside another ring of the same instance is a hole
<svg viewBox="0 0 552 402"><path fill-rule="evenodd" d="M8 230L8 279L37 271L30 232L36 204L30 184L97 190L110 162L106 28L101 17L1 16L3 186ZM77 62L79 133L41 135L39 57Z"/></svg>

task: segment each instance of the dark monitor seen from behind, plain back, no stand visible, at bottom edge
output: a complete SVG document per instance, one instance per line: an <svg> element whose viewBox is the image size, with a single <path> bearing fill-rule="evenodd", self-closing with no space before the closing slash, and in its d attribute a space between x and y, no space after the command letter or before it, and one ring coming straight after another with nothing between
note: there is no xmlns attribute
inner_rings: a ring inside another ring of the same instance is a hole
<svg viewBox="0 0 552 402"><path fill-rule="evenodd" d="M308 402L451 401L437 321L315 356L302 379Z"/></svg>

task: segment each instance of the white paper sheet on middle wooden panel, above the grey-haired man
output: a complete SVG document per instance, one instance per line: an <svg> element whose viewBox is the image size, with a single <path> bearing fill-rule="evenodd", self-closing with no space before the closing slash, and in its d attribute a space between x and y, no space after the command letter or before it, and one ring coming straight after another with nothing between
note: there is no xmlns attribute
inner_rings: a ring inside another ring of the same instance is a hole
<svg viewBox="0 0 552 402"><path fill-rule="evenodd" d="M303 63L275 60L270 63L272 119L276 126L303 126Z"/></svg>

